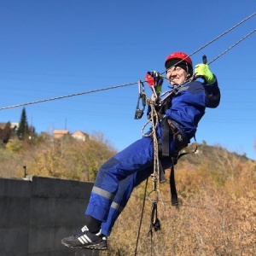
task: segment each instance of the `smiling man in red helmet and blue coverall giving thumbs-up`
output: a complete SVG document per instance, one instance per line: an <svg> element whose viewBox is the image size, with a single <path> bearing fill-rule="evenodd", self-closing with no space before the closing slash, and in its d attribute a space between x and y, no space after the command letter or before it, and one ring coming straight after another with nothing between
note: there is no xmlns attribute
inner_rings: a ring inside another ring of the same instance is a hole
<svg viewBox="0 0 256 256"><path fill-rule="evenodd" d="M175 52L167 56L165 67L166 79L176 88L175 94L166 97L165 101L158 98L163 83L160 73L148 72L146 76L149 87L157 94L152 98L156 101L160 116L157 137L161 148L160 164L164 170L172 166L173 154L186 147L195 136L205 109L217 108L220 101L217 79L207 64L195 66L193 77L189 56ZM148 113L150 110L148 108ZM163 136L166 129L164 124L168 125L167 133L172 135L167 141ZM62 239L62 244L67 247L107 249L107 236L115 220L125 208L132 189L153 172L153 164L152 137L142 137L103 164L97 172L85 212L90 216L90 221L77 234Z"/></svg>

